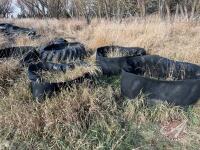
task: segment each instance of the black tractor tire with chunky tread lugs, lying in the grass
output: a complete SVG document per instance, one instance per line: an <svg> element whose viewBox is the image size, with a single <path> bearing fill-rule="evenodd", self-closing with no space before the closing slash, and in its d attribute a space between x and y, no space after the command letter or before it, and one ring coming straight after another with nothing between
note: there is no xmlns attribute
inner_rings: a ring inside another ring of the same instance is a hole
<svg viewBox="0 0 200 150"><path fill-rule="evenodd" d="M68 42L62 38L55 39L40 48L41 60L44 62L65 62L82 59L86 56L83 44Z"/></svg>

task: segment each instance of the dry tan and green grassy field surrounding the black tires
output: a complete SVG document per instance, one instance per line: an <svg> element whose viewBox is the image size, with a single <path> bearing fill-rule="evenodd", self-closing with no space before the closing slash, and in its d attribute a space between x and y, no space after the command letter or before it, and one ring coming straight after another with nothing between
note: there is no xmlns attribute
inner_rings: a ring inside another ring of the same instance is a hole
<svg viewBox="0 0 200 150"><path fill-rule="evenodd" d="M104 45L138 46L149 54L200 65L197 20L164 21L153 16L123 22L93 20L90 25L84 20L56 19L0 22L33 27L44 35L36 40L20 36L15 41L0 35L1 48L39 46L64 37L84 43L91 52ZM89 59L94 58L95 54ZM146 106L144 95L134 100L120 96L118 76L101 77L94 87L83 83L39 104L31 97L27 69L21 70L17 63L11 59L0 63L0 150L199 149L199 104L188 108ZM83 72L76 71L72 76ZM169 132L171 129L175 130Z"/></svg>

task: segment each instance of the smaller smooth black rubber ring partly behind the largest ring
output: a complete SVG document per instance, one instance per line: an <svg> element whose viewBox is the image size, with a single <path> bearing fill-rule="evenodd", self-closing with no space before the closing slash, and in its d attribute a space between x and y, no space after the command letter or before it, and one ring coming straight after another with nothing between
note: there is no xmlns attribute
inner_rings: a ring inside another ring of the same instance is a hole
<svg viewBox="0 0 200 150"><path fill-rule="evenodd" d="M109 58L107 55L111 52L126 53L126 57ZM120 46L104 46L97 49L96 60L97 64L102 68L105 75L120 74L123 66L128 58L135 56L146 55L146 51L139 47L120 47Z"/></svg>

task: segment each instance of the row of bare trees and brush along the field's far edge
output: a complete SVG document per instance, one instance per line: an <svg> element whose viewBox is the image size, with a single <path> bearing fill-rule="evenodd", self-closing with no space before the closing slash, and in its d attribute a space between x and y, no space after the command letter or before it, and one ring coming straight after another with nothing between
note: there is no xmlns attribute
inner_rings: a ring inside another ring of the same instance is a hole
<svg viewBox="0 0 200 150"><path fill-rule="evenodd" d="M0 0L0 15L12 13L12 0ZM20 18L92 18L123 19L159 14L162 18L200 14L200 0L17 0Z"/></svg>

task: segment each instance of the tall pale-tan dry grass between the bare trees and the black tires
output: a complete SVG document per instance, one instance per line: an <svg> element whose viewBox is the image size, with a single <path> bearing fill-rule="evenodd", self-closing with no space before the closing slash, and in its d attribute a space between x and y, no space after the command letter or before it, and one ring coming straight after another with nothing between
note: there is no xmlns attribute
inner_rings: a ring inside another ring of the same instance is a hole
<svg viewBox="0 0 200 150"><path fill-rule="evenodd" d="M177 19L164 21L157 17L145 20L132 18L122 23L108 20L93 20L86 25L82 20L8 20L16 25L33 27L45 35L39 40L20 37L17 45L40 45L55 37L83 42L88 49L95 50L103 45L139 46L151 54L161 55L176 60L185 60L199 64L198 21L186 22ZM35 23L37 22L37 24Z"/></svg>

